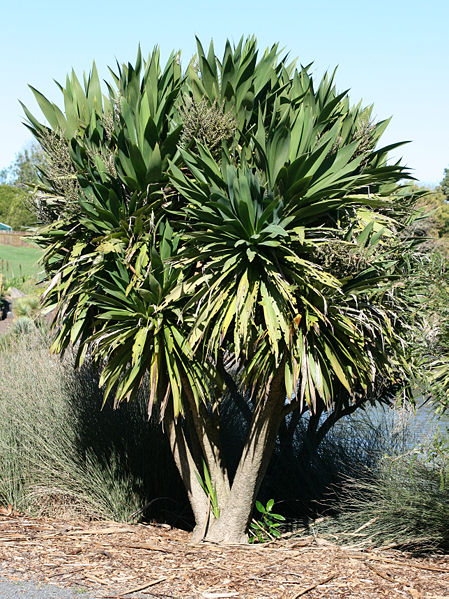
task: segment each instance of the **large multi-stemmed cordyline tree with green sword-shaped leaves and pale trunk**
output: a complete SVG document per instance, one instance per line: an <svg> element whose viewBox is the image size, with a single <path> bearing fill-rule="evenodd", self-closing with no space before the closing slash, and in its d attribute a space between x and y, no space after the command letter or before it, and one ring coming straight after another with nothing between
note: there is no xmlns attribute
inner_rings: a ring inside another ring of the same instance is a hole
<svg viewBox="0 0 449 599"><path fill-rule="evenodd" d="M221 60L197 45L185 72L178 54L161 67L139 51L107 95L95 65L83 85L72 73L64 111L33 90L48 125L24 110L46 152L53 349L92 356L116 403L149 378L193 539L229 543L246 539L289 414L308 411L319 437L323 412L329 428L407 377L410 202L406 169L376 149L387 123L333 77L316 87L254 39ZM229 390L251 412L233 472Z"/></svg>

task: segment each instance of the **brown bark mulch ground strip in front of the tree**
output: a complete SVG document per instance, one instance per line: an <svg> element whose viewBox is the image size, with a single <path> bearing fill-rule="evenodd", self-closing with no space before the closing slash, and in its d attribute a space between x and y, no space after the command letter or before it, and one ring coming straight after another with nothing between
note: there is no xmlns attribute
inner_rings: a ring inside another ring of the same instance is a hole
<svg viewBox="0 0 449 599"><path fill-rule="evenodd" d="M446 556L360 551L313 537L244 547L191 545L188 533L166 525L16 513L0 514L0 574L104 599L449 597Z"/></svg>

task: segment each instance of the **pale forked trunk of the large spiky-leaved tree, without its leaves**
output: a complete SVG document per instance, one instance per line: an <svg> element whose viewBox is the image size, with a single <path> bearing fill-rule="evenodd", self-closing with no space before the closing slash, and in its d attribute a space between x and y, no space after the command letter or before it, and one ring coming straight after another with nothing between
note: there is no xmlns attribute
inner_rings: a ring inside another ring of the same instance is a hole
<svg viewBox="0 0 449 599"><path fill-rule="evenodd" d="M283 418L284 365L276 371L265 396L256 404L232 486L223 464L214 414L205 406L198 409L192 405L191 397L188 404L189 414L184 421L188 434L185 434L181 419L175 421L168 409L165 427L195 517L191 540L194 543L203 540L220 544L246 543L251 512ZM198 475L203 478L202 460L217 495L218 518L214 517L210 497L198 480Z"/></svg>

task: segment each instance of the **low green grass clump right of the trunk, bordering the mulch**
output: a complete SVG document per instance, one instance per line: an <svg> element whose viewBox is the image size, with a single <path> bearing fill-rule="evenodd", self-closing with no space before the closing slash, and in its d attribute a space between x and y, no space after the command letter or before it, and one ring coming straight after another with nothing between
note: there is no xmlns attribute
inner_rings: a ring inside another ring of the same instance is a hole
<svg viewBox="0 0 449 599"><path fill-rule="evenodd" d="M335 517L312 525L315 534L358 547L449 550L449 487L423 456L384 457L373 475L348 478Z"/></svg>

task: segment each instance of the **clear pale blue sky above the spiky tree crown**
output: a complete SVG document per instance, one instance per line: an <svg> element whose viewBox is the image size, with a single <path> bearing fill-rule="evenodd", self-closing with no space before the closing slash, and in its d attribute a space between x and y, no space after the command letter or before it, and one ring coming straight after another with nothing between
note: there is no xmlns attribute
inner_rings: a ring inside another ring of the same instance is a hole
<svg viewBox="0 0 449 599"><path fill-rule="evenodd" d="M279 42L321 76L338 65L340 90L353 102L374 104L377 120L392 116L385 144L411 140L393 157L415 177L438 183L449 166L449 0L259 0L220 3L172 0L18 0L1 5L0 169L31 140L18 100L39 109L32 84L53 101L73 67L100 76L107 65L134 60L155 44L162 55L195 52L194 35L213 38L220 55L226 38L255 34L261 47Z"/></svg>

